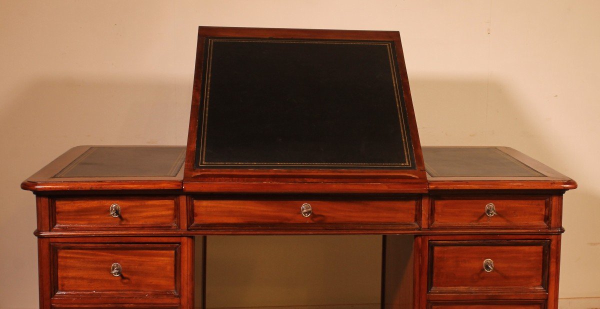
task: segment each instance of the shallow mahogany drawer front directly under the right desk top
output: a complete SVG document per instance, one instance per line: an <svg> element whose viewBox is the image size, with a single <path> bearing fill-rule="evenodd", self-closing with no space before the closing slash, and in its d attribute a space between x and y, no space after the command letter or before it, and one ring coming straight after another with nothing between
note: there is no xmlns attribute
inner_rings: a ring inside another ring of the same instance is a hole
<svg viewBox="0 0 600 309"><path fill-rule="evenodd" d="M547 229L549 209L550 196L434 197L430 226Z"/></svg>

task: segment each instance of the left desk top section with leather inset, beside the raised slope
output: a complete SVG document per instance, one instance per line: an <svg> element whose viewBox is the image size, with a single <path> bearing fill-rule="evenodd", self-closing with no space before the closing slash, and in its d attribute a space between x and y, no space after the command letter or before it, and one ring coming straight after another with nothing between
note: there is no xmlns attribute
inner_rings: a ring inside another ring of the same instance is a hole
<svg viewBox="0 0 600 309"><path fill-rule="evenodd" d="M23 181L31 191L181 190L183 146L76 146Z"/></svg>

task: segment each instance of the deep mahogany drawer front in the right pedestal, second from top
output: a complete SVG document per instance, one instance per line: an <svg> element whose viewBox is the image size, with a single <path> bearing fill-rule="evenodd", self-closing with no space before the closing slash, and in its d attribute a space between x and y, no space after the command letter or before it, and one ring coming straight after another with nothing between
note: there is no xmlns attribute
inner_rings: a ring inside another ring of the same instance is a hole
<svg viewBox="0 0 600 309"><path fill-rule="evenodd" d="M549 240L430 241L430 293L544 293Z"/></svg>

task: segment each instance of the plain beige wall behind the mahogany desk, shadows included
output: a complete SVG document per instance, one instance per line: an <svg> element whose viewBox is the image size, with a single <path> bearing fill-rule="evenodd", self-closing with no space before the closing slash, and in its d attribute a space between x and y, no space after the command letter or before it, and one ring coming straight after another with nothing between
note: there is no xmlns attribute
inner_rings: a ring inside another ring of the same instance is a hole
<svg viewBox="0 0 600 309"><path fill-rule="evenodd" d="M185 143L198 25L400 31L423 145L511 146L579 182L561 306L600 307L600 1L3 0L0 308L37 307L20 181L75 145Z"/></svg>

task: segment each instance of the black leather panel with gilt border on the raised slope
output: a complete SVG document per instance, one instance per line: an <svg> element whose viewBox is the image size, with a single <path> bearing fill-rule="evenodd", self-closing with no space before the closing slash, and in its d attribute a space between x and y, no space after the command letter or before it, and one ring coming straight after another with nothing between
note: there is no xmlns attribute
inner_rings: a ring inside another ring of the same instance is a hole
<svg viewBox="0 0 600 309"><path fill-rule="evenodd" d="M391 41L206 38L197 168L416 169Z"/></svg>

